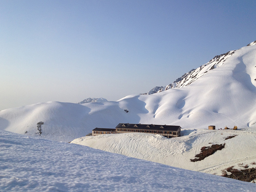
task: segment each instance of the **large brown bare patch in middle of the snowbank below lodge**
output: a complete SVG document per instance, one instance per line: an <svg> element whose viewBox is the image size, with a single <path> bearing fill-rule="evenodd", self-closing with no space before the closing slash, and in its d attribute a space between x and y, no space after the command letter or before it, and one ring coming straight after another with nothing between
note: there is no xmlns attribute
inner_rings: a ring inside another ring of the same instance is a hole
<svg viewBox="0 0 256 192"><path fill-rule="evenodd" d="M223 149L224 147L225 147L225 143L224 144L213 144L210 147L202 147L201 152L195 156L196 158L190 159L190 161L192 161L192 162L201 161L204 158L212 155L216 151Z"/></svg>

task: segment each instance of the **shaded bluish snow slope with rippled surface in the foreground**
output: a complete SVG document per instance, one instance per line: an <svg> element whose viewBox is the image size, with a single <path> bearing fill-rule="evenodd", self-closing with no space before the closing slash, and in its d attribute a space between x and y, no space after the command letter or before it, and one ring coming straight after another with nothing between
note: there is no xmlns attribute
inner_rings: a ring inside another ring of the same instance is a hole
<svg viewBox="0 0 256 192"><path fill-rule="evenodd" d="M0 130L0 191L255 191L255 184Z"/></svg>

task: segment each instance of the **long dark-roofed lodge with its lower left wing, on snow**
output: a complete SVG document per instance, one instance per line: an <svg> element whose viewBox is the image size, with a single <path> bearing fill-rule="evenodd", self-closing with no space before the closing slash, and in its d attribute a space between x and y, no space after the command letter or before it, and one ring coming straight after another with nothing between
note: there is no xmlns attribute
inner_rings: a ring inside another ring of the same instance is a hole
<svg viewBox="0 0 256 192"><path fill-rule="evenodd" d="M118 124L116 129L95 128L92 130L92 136L111 133L131 133L141 132L150 134L159 134L167 138L180 137L181 127L176 125L155 125L155 124Z"/></svg>

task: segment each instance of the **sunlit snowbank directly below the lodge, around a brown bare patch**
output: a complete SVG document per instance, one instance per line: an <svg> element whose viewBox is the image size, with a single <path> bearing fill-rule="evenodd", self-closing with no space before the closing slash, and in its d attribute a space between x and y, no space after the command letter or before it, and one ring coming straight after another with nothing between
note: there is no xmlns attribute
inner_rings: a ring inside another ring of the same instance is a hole
<svg viewBox="0 0 256 192"><path fill-rule="evenodd" d="M251 132L254 131L254 132ZM71 143L118 153L183 169L222 175L222 170L238 164L255 168L256 130L182 130L182 137L167 139L161 135L147 133L106 134L82 137ZM225 140L228 136L237 135ZM204 160L191 162L202 147L224 144ZM239 168L239 167L237 167ZM255 178L256 179L256 178Z"/></svg>

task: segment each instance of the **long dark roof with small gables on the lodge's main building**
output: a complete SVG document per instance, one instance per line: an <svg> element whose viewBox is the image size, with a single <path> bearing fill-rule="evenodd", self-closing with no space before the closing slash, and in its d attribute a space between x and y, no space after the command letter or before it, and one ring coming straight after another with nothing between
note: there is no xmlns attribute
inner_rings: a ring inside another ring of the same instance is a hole
<svg viewBox="0 0 256 192"><path fill-rule="evenodd" d="M136 126L134 126L136 125ZM154 125L154 124L129 124L119 123L116 128L123 129L147 129L147 130L163 130L163 131L178 131L180 126L177 125Z"/></svg>

